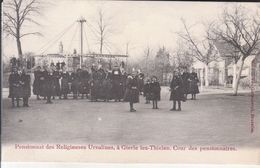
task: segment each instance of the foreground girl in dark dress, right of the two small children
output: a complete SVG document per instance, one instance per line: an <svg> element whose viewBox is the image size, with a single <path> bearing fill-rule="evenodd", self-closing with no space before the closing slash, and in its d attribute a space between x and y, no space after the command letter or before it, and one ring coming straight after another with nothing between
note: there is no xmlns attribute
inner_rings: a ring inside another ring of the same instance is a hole
<svg viewBox="0 0 260 168"><path fill-rule="evenodd" d="M173 101L173 108L171 111L176 111L176 102L178 102L178 111L181 111L181 101L185 101L184 91L183 91L183 81L180 74L173 72L173 78L171 81L171 97L170 100Z"/></svg>

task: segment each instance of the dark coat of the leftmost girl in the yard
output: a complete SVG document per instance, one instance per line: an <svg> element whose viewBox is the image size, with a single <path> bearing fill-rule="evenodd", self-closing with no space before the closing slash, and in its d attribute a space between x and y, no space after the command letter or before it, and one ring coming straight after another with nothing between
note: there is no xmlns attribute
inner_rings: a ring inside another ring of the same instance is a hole
<svg viewBox="0 0 260 168"><path fill-rule="evenodd" d="M9 75L9 98L21 98L22 85L20 75L18 73L11 73Z"/></svg>

